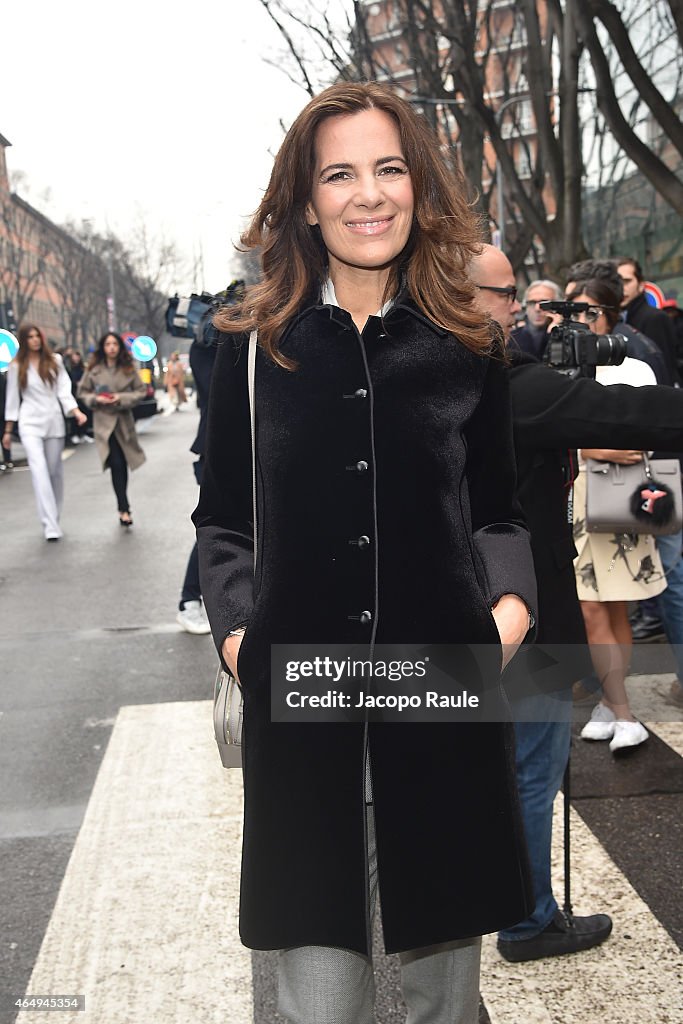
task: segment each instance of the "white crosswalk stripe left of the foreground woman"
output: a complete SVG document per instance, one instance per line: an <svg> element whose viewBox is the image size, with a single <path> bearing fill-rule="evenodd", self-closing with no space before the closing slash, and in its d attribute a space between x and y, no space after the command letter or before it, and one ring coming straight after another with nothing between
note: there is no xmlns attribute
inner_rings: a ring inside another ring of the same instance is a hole
<svg viewBox="0 0 683 1024"><path fill-rule="evenodd" d="M241 819L208 701L122 708L28 992L84 993L60 1024L248 1024Z"/></svg>

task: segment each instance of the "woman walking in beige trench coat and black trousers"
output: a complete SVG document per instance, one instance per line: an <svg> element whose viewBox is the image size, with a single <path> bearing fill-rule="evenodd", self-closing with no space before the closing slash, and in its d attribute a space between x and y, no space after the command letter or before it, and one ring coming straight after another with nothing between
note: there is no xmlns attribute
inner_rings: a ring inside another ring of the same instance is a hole
<svg viewBox="0 0 683 1024"><path fill-rule="evenodd" d="M128 504L128 470L137 469L144 462L132 409L144 395L144 384L123 338L113 331L103 334L81 378L78 396L92 410L97 453L102 469L112 471L119 522L126 528L133 524Z"/></svg>

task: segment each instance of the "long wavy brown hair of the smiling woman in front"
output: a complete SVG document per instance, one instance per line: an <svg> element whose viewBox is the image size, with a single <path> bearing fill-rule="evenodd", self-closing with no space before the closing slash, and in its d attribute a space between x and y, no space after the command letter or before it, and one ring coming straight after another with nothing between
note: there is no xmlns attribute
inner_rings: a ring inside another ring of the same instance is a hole
<svg viewBox="0 0 683 1024"><path fill-rule="evenodd" d="M315 135L327 118L371 110L384 111L396 123L415 203L411 234L391 267L385 301L404 280L413 300L434 324L476 352L490 350L490 328L474 305L474 287L467 278L482 238L461 172L447 165L436 135L410 103L376 82L343 83L311 99L287 133L263 200L241 239L245 249L260 250L262 280L243 302L220 309L214 321L229 333L257 328L259 345L288 369L294 365L280 352L279 340L328 272L319 228L306 222Z"/></svg>

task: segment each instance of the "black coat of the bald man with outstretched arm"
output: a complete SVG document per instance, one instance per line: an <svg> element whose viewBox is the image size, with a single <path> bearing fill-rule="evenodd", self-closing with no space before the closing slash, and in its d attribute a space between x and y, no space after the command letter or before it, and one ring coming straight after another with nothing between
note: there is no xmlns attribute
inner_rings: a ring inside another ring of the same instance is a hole
<svg viewBox="0 0 683 1024"><path fill-rule="evenodd" d="M593 380L571 380L523 353L511 358L517 498L531 535L539 585L537 641L584 645L573 572L577 550L567 521L569 484L578 470L573 449L683 451L683 391L656 385L604 387ZM511 695L522 688L523 669L532 657L522 651L513 660L505 677ZM566 664L565 683L580 678L581 666L577 651ZM583 666L591 671L587 656Z"/></svg>

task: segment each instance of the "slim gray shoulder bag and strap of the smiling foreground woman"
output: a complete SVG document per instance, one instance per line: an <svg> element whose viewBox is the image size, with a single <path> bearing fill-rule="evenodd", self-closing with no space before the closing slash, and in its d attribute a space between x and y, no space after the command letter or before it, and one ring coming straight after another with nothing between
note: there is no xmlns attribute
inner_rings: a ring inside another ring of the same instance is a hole
<svg viewBox="0 0 683 1024"><path fill-rule="evenodd" d="M256 331L249 336L247 373L249 379L249 412L251 417L252 501L254 515L254 566L256 566L256 417L254 411L254 379L256 375ZM218 667L213 691L213 729L223 768L242 767L242 720L244 698L234 676Z"/></svg>

